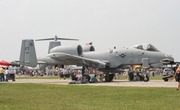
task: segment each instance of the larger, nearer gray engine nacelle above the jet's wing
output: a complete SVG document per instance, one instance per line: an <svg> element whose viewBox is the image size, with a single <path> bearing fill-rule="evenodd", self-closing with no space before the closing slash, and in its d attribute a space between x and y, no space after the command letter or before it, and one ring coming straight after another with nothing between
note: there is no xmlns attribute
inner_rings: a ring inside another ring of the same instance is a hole
<svg viewBox="0 0 180 110"><path fill-rule="evenodd" d="M66 53L81 56L83 53L83 48L81 45L71 45L71 46L57 46L50 50L50 53Z"/></svg>

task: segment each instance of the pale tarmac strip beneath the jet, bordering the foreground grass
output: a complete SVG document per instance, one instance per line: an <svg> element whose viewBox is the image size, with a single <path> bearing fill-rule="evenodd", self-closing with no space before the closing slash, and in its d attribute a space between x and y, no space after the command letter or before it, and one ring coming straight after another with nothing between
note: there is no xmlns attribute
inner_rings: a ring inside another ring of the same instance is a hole
<svg viewBox="0 0 180 110"><path fill-rule="evenodd" d="M40 84L60 84L70 85L71 80L63 79L16 79L16 81L9 80L8 83L40 83ZM72 85L72 84L71 84ZM102 83L86 83L86 84L73 84L73 85L89 85L89 86L129 86L129 87L177 87L176 81L164 82L163 80L150 80L144 81L128 81L128 80L113 80L113 82Z"/></svg>

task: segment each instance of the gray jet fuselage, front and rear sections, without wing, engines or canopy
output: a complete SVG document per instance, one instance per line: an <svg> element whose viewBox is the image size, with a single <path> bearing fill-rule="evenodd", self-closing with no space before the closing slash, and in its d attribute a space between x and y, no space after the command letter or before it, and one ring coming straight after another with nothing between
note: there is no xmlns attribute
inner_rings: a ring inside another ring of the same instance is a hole
<svg viewBox="0 0 180 110"><path fill-rule="evenodd" d="M116 68L121 65L133 65L140 64L142 65L142 59L148 58L149 64L160 63L160 60L168 58L174 60L172 57L157 51L146 51L139 50L136 48L120 48L113 49L108 51L92 51L92 52L84 52L82 57L89 59L96 59L100 61L105 61L108 63L110 68ZM82 65L77 60L68 60L68 59L54 59L51 57L40 57L38 61L44 61L50 65Z"/></svg>

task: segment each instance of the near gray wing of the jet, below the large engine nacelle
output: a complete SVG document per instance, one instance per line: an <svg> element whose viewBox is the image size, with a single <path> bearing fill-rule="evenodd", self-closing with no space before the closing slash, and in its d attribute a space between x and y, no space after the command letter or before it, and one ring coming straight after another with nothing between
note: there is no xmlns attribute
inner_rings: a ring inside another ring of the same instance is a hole
<svg viewBox="0 0 180 110"><path fill-rule="evenodd" d="M47 55L48 57L57 59L57 60L64 60L66 62L76 62L77 65L85 65L90 67L96 67L96 68L105 68L108 61L101 61L97 59L90 59L90 58L84 58L81 56L76 56L72 54L67 53L50 53Z"/></svg>

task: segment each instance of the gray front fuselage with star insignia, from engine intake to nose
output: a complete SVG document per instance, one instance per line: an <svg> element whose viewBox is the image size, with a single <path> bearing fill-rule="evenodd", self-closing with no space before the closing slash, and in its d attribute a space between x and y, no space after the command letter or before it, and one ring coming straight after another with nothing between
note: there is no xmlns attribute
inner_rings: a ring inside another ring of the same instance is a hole
<svg viewBox="0 0 180 110"><path fill-rule="evenodd" d="M110 67L117 67L121 64L132 65L142 64L143 58L149 59L149 64L160 63L160 60L168 58L174 60L162 52L139 50L134 48L113 49L102 52L86 52L83 57L108 61Z"/></svg>

